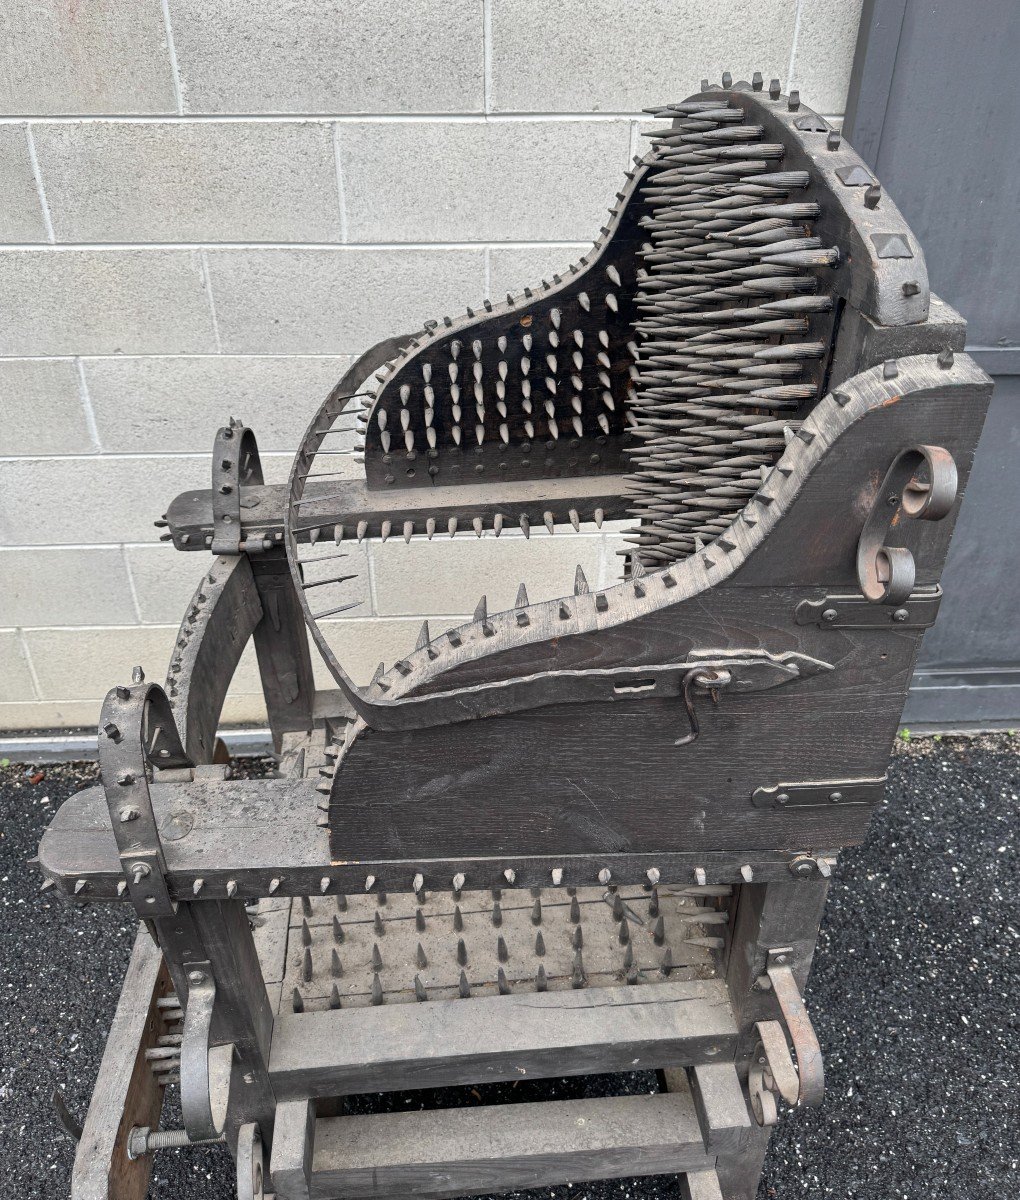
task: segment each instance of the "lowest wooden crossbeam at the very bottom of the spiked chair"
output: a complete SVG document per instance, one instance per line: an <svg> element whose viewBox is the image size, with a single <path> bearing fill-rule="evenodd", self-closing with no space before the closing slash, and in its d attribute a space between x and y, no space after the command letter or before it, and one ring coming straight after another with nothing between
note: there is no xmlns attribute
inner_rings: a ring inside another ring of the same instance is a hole
<svg viewBox="0 0 1020 1200"><path fill-rule="evenodd" d="M658 1094L322 1118L305 1178L312 1200L374 1200L713 1168L690 1096ZM280 1200L300 1195L272 1169Z"/></svg>

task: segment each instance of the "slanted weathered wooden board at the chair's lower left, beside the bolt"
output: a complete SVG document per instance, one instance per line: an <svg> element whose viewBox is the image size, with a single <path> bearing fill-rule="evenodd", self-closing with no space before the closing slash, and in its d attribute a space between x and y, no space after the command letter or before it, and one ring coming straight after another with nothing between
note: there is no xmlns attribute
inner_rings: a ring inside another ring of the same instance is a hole
<svg viewBox="0 0 1020 1200"><path fill-rule="evenodd" d="M156 1001L170 991L160 948L138 930L110 1026L71 1176L72 1200L144 1200L151 1156L127 1157L132 1126L158 1127L163 1088L145 1061L161 1019Z"/></svg>

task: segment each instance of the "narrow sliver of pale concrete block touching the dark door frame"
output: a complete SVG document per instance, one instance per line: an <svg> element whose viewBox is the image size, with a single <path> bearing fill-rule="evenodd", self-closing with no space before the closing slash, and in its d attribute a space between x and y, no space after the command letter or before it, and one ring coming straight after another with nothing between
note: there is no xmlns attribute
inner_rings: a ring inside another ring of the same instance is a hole
<svg viewBox="0 0 1020 1200"><path fill-rule="evenodd" d="M790 85L816 113L846 107L862 0L800 0Z"/></svg>

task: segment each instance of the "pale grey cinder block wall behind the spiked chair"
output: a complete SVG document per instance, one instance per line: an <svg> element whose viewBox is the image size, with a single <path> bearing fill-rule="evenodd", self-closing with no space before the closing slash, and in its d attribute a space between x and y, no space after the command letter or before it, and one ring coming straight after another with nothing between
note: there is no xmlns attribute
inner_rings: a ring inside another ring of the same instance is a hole
<svg viewBox="0 0 1020 1200"><path fill-rule="evenodd" d="M754 70L842 110L860 0L5 0L0 730L162 678L200 556L154 518L218 425L270 481L372 342L590 242L641 109ZM352 469L359 469L352 462ZM617 570L612 532L361 547L334 634L367 678L421 616ZM252 662L228 700L259 720Z"/></svg>

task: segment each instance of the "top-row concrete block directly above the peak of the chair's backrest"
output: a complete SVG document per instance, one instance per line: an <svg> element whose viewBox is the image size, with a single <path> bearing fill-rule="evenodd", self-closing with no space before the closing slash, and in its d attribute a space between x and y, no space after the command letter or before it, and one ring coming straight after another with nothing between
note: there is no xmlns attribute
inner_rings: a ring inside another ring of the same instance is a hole
<svg viewBox="0 0 1020 1200"><path fill-rule="evenodd" d="M638 113L702 77L786 78L797 0L589 0L492 5L496 112Z"/></svg>

